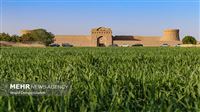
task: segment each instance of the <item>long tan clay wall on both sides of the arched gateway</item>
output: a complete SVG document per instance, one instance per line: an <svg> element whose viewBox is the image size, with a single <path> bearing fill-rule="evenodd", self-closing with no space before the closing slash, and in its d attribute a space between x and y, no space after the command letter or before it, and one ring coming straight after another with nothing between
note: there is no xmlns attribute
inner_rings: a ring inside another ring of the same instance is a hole
<svg viewBox="0 0 200 112"><path fill-rule="evenodd" d="M113 37L113 44L117 45L133 45L143 44L144 46L161 46L162 44L169 44L175 46L181 44L181 41L160 41L161 37L148 37L148 36L115 36ZM58 44L69 43L74 46L93 46L91 37L86 35L73 36L73 35L56 35L55 42Z"/></svg>

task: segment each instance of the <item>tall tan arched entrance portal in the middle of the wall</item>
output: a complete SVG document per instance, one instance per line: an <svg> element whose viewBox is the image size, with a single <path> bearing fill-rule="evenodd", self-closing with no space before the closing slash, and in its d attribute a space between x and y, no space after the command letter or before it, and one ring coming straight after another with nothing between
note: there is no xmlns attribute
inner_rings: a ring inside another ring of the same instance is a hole
<svg viewBox="0 0 200 112"><path fill-rule="evenodd" d="M99 27L91 31L92 46L104 47L112 45L112 30L110 28Z"/></svg>

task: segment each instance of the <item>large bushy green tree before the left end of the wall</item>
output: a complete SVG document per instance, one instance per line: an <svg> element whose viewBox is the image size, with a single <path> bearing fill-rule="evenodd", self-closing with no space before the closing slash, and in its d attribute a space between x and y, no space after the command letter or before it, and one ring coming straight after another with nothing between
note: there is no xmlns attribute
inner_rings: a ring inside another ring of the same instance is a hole
<svg viewBox="0 0 200 112"><path fill-rule="evenodd" d="M36 29L32 30L28 34L22 35L21 39L22 42L41 42L44 43L45 45L49 45L53 43L54 41L54 35L51 32L47 32L44 29Z"/></svg>

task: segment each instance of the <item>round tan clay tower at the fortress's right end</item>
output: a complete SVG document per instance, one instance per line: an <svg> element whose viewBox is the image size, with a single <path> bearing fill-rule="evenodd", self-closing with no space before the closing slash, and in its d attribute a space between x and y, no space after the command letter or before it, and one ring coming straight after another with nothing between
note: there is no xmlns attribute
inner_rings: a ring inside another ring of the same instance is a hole
<svg viewBox="0 0 200 112"><path fill-rule="evenodd" d="M180 41L179 29L168 29L163 33L161 41Z"/></svg>

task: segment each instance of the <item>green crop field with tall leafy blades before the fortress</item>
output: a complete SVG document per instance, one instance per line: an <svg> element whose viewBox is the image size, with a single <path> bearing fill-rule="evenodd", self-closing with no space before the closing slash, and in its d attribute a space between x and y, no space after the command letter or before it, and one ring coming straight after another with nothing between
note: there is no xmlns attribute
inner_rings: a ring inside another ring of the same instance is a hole
<svg viewBox="0 0 200 112"><path fill-rule="evenodd" d="M1 96L1 112L200 111L199 48L1 48L0 80L71 82L63 96Z"/></svg>

